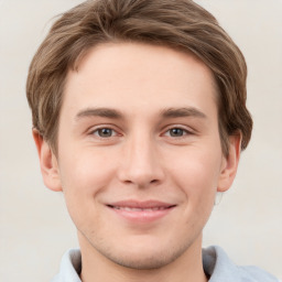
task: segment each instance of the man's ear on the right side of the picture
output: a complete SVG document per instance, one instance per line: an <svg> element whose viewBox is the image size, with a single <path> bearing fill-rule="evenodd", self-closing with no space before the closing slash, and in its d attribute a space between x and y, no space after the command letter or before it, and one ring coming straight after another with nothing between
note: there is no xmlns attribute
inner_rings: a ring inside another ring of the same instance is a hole
<svg viewBox="0 0 282 282"><path fill-rule="evenodd" d="M223 158L220 177L217 192L226 192L230 188L237 173L241 153L241 133L229 137L229 154Z"/></svg>

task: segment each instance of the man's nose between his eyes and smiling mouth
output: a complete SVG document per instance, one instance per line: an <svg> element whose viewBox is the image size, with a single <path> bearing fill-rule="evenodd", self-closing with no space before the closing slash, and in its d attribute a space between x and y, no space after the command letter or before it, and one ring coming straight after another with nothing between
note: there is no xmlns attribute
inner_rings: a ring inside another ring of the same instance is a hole
<svg viewBox="0 0 282 282"><path fill-rule="evenodd" d="M164 170L156 143L150 138L132 138L126 142L119 178L126 184L148 187L161 184Z"/></svg>

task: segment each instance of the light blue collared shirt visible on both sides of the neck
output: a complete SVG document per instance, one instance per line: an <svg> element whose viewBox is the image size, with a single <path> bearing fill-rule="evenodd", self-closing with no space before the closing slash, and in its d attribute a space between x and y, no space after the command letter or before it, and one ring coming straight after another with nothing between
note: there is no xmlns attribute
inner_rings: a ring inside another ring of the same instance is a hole
<svg viewBox="0 0 282 282"><path fill-rule="evenodd" d="M276 278L257 267L238 267L217 246L203 249L203 265L209 282L279 282ZM82 254L78 249L67 251L59 273L51 282L82 282Z"/></svg>

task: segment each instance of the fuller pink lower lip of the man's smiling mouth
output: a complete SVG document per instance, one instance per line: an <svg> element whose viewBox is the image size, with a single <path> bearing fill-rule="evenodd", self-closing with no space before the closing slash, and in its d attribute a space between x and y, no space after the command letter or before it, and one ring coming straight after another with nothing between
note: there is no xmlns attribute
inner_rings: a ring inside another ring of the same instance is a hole
<svg viewBox="0 0 282 282"><path fill-rule="evenodd" d="M152 223L169 215L174 207L158 210L126 210L109 207L117 215L133 223Z"/></svg>

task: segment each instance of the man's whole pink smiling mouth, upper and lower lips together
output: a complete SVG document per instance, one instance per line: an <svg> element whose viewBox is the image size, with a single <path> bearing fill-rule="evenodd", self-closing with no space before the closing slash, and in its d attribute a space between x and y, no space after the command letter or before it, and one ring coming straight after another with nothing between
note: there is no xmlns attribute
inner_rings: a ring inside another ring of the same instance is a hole
<svg viewBox="0 0 282 282"><path fill-rule="evenodd" d="M176 205L159 200L121 200L107 204L116 215L132 223L152 223L169 215Z"/></svg>

